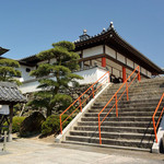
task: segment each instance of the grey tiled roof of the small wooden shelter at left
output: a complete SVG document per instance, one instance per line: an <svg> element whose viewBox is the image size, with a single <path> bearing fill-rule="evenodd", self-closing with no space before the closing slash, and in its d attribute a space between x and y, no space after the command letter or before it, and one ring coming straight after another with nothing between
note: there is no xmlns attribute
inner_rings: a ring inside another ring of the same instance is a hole
<svg viewBox="0 0 164 164"><path fill-rule="evenodd" d="M0 82L0 104L26 102L26 97L22 95L15 84L10 82Z"/></svg>

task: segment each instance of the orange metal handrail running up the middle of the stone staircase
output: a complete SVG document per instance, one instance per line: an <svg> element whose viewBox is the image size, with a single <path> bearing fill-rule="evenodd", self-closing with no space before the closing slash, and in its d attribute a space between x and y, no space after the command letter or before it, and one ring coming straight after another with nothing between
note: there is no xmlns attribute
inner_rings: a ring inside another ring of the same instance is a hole
<svg viewBox="0 0 164 164"><path fill-rule="evenodd" d="M134 78L131 80L131 82L128 84L128 80L130 80L130 78L132 77L132 74L136 72L137 74L134 75ZM102 136L101 136L101 125L103 124L103 121L106 119L106 117L109 115L109 113L113 110L113 108L116 106L116 117L118 117L118 106L117 103L120 101L120 98L122 97L122 95L125 94L125 92L127 92L127 101L129 101L129 95L128 95L128 87L131 85L131 83L133 82L133 80L138 77L138 81L141 80L140 77L140 67L138 66L132 73L128 77L128 79L126 79L126 81L120 85L120 87L117 90L117 92L113 95L113 97L106 103L106 105L103 107L103 109L98 113L98 131L99 131L99 144L102 144ZM120 97L118 98L117 94L118 92L126 85L126 90L122 92L122 94L120 95ZM115 98L115 104L113 105L113 107L108 110L108 113L106 114L106 116L101 120L99 116L101 114L104 112L104 109L109 105L109 103Z"/></svg>

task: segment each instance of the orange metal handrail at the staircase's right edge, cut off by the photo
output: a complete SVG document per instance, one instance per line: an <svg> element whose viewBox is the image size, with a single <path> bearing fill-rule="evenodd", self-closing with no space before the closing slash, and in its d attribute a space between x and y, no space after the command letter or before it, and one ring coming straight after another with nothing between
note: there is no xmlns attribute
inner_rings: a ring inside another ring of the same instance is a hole
<svg viewBox="0 0 164 164"><path fill-rule="evenodd" d="M157 110L159 110L159 107L160 107L160 105L161 105L161 103L162 103L162 101L163 101L163 97L164 97L164 93L162 94L161 99L160 99L160 102L159 102L159 104L157 104L157 106L156 106L156 109L155 109L155 112L154 112L154 114L153 114L153 117L152 117L152 120L153 120L153 128L154 128L154 134L155 134L156 143L157 143L156 129L157 129L157 127L159 127L159 124L160 124L160 120L161 120L162 114L163 114L163 112L164 112L164 107L162 108L162 112L161 112L161 114L160 114L160 117L159 117L159 120L157 120L157 122L156 122L156 126L155 126L154 117L155 117L155 115L156 115L156 113L157 113Z"/></svg>

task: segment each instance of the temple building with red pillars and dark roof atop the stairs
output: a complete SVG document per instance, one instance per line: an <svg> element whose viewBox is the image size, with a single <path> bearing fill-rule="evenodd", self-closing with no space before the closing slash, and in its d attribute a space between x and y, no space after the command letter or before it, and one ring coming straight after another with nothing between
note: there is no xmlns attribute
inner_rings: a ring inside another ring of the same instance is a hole
<svg viewBox="0 0 164 164"><path fill-rule="evenodd" d="M81 56L81 67L91 67L96 63L108 68L114 77L122 81L137 66L140 66L142 78L151 78L153 74L163 72L161 68L124 40L115 31L113 22L107 31L104 28L95 36L89 36L84 31L80 39L75 42L75 49Z"/></svg>

